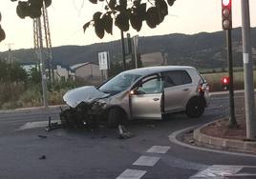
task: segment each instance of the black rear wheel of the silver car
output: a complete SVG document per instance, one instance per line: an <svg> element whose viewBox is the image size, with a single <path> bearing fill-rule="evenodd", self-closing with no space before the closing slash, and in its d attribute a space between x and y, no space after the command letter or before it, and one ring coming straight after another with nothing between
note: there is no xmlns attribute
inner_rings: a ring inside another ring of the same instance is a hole
<svg viewBox="0 0 256 179"><path fill-rule="evenodd" d="M200 97L193 97L188 101L185 109L185 113L188 117L198 118L203 115L203 112L204 112L203 99L201 99Z"/></svg>

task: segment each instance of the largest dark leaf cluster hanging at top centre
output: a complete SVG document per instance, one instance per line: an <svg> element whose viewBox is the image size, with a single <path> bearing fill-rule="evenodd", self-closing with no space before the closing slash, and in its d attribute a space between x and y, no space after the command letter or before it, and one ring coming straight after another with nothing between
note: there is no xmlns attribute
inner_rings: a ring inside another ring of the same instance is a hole
<svg viewBox="0 0 256 179"><path fill-rule="evenodd" d="M99 0L104 1L104 0ZM90 0L97 4L97 0ZM105 12L96 11L93 19L83 26L86 30L90 25L95 27L96 35L103 38L105 32L112 34L113 26L119 30L127 31L130 25L139 31L142 22L145 21L148 27L156 28L168 14L168 5L173 6L175 0L106 0Z"/></svg>

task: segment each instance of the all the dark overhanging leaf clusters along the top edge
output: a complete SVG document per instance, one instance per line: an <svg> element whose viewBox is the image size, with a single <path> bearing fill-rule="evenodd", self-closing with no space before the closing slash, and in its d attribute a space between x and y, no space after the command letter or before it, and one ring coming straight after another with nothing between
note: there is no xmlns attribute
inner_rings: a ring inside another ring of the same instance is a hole
<svg viewBox="0 0 256 179"><path fill-rule="evenodd" d="M17 0L11 0L12 2ZM130 26L134 30L141 30L142 22L145 21L148 27L156 28L163 22L168 14L168 6L173 6L176 0L89 0L93 4L99 2L105 5L104 11L96 11L93 19L84 24L85 31L93 26L96 35L103 38L105 32L112 34L113 26L119 30L127 31ZM16 12L20 18L27 16L37 18L41 16L43 6L48 8L52 0L27 0L18 1ZM101 6L101 5L100 5ZM1 23L0 13L0 23ZM6 37L5 31L0 24L0 42Z"/></svg>

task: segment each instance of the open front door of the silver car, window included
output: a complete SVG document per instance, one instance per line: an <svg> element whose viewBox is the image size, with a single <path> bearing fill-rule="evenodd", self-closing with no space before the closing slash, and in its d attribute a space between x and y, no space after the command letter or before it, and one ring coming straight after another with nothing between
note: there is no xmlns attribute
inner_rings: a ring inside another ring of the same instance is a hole
<svg viewBox="0 0 256 179"><path fill-rule="evenodd" d="M133 118L161 119L162 86L160 75L151 75L139 81L130 94Z"/></svg>

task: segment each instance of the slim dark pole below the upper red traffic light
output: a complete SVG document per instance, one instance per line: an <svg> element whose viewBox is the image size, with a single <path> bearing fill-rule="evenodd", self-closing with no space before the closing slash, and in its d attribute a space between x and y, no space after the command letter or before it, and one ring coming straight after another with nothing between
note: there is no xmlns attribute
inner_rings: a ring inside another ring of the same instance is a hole
<svg viewBox="0 0 256 179"><path fill-rule="evenodd" d="M235 105L234 105L234 83L233 83L233 59L232 59L232 40L231 30L226 31L226 45L227 45L227 59L228 59L228 75L229 75L229 110L230 118L228 127L236 128L237 121L235 117Z"/></svg>

